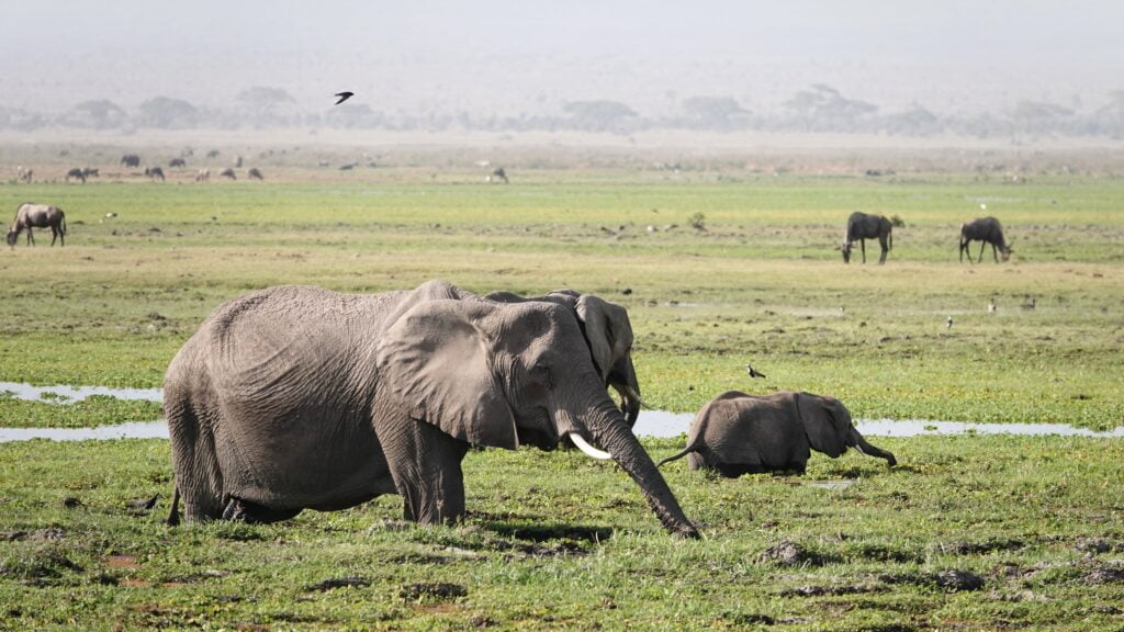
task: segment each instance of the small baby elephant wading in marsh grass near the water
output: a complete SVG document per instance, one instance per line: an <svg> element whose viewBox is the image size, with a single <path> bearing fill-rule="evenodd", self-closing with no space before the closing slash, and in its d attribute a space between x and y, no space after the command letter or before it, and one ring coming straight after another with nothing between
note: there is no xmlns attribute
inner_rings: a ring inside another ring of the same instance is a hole
<svg viewBox="0 0 1124 632"><path fill-rule="evenodd" d="M854 430L851 413L839 399L810 392L756 396L731 390L695 416L687 449L659 464L689 454L692 470L717 470L729 478L771 471L804 473L809 449L835 459L847 448L897 464L894 454L867 443Z"/></svg>

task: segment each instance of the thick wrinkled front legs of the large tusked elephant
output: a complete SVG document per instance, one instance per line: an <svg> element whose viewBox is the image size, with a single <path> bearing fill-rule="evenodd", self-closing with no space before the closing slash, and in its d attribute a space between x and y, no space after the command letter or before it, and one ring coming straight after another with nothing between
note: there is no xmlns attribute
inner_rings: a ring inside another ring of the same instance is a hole
<svg viewBox="0 0 1124 632"><path fill-rule="evenodd" d="M469 444L417 419L375 424L406 520L453 523L464 515L461 461Z"/></svg>

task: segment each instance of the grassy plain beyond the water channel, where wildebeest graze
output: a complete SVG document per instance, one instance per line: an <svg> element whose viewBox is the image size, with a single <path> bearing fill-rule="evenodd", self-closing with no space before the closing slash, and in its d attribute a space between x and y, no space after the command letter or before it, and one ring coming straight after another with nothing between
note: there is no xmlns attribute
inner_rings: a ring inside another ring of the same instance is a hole
<svg viewBox="0 0 1124 632"><path fill-rule="evenodd" d="M38 247L0 256L0 380L160 386L202 318L245 291L443 278L625 305L644 397L659 408L790 388L836 395L865 417L1124 423L1122 180L542 171L502 187L372 173L0 186L0 208L51 201L71 224L65 250L44 247L40 231ZM1012 263L957 261L959 223L980 204L1015 240ZM905 219L888 265L844 265L833 250L859 208ZM689 226L697 213L705 231ZM1035 308L1021 307L1031 297ZM770 379L747 383L749 360Z"/></svg>

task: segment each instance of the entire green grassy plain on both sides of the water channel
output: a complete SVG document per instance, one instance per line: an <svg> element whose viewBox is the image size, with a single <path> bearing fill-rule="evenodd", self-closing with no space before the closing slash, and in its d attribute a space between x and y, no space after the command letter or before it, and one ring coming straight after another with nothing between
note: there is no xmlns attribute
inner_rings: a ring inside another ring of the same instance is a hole
<svg viewBox="0 0 1124 632"><path fill-rule="evenodd" d="M206 315L242 292L443 278L625 305L644 398L661 409L786 388L862 417L1124 424L1122 180L544 169L499 187L418 165L363 182L320 173L0 186L0 209L56 204L71 227L65 249L39 232L39 246L0 252L0 381L158 387ZM1012 263L957 261L959 224L980 204L1014 237ZM844 265L833 250L852 210L905 219L887 265ZM747 361L769 378L750 383ZM111 398L0 399L7 426L156 415ZM615 466L569 452L470 453L470 514L454 527L400 524L401 499L383 497L277 525L170 529L164 441L0 444L0 629L1124 624L1118 440L872 441L900 467L815 455L804 478L722 480L669 464L698 542L669 539ZM660 459L681 440L645 445ZM808 485L844 479L856 482ZM134 507L155 494L154 511ZM785 541L798 563L762 558ZM952 570L982 587L954 589Z"/></svg>

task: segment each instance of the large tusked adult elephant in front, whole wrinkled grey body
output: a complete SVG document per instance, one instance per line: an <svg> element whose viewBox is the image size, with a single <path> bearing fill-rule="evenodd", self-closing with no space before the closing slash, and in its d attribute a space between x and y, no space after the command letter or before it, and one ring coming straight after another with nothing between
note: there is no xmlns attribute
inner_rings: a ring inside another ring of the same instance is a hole
<svg viewBox="0 0 1124 632"><path fill-rule="evenodd" d="M552 450L578 432L613 454L668 531L698 535L573 314L545 301L501 304L441 281L253 292L219 307L172 360L164 412L189 521L273 522L399 494L407 520L454 522L470 446Z"/></svg>

